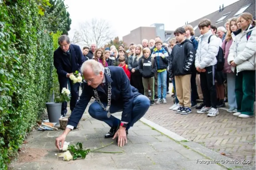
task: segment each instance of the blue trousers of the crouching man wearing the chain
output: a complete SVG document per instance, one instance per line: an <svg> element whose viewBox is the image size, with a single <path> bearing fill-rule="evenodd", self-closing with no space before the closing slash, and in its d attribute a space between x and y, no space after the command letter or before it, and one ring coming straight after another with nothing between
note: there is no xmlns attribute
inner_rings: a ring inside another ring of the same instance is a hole
<svg viewBox="0 0 256 170"><path fill-rule="evenodd" d="M106 107L107 103L102 102L104 107ZM148 99L147 96L144 95L139 95L134 97L133 99L133 108L132 108L132 113L131 113L131 122L128 123L126 130L128 130L135 122L140 120L145 113L147 112L148 108L150 107L150 100ZM121 112L123 110L123 105L122 104L111 104L110 105L110 113L116 113L116 112ZM103 121L106 124L108 124L110 127L117 126L120 123L120 120L117 119L114 116L110 116L110 118L107 117L106 111L100 106L100 104L95 101L93 102L89 109L88 112L91 117Z"/></svg>

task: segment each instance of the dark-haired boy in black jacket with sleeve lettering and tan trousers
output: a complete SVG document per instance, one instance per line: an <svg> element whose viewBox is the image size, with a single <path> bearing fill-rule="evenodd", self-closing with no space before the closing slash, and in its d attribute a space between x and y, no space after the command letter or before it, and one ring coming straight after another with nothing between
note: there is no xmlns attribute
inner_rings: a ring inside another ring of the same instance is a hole
<svg viewBox="0 0 256 170"><path fill-rule="evenodd" d="M177 40L171 52L170 67L174 75L176 94L180 107L176 113L186 115L191 113L191 69L195 65L195 50L191 40L186 39L185 29L180 27L174 31Z"/></svg>

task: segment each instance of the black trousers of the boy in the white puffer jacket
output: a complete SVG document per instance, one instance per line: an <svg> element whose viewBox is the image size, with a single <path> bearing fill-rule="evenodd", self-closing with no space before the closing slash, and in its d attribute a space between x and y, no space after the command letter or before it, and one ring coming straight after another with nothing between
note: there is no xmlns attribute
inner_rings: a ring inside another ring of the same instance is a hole
<svg viewBox="0 0 256 170"><path fill-rule="evenodd" d="M206 107L217 108L217 94L215 87L215 67L205 67L205 72L200 73L200 85Z"/></svg>

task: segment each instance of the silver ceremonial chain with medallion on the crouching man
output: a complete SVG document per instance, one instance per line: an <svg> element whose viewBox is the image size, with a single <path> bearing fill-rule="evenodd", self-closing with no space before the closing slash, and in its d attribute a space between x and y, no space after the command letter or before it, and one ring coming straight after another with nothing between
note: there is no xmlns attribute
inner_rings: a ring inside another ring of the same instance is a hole
<svg viewBox="0 0 256 170"><path fill-rule="evenodd" d="M109 77L111 77L109 68L106 67L105 70L106 70L106 73L109 75ZM108 118L110 118L110 116L111 116L111 114L109 112L109 108L110 108L110 105L111 105L111 89L112 89L111 88L111 83L108 83L108 105L106 107L104 107L103 104L101 103L97 90L93 89L95 99L100 104L100 106L104 109L104 111L108 112L107 113Z"/></svg>

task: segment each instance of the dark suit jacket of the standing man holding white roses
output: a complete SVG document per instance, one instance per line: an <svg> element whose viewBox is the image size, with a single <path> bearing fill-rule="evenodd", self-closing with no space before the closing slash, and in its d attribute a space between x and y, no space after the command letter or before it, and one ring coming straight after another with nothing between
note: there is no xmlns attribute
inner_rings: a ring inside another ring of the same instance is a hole
<svg viewBox="0 0 256 170"><path fill-rule="evenodd" d="M63 51L59 47L57 50L54 51L53 55L53 64L54 67L57 69L57 73L59 77L65 77L67 73L73 73L76 70L81 73L81 66L85 61L84 55L79 46L70 44L69 48L72 54L72 64L70 63L68 56L63 54Z"/></svg>

